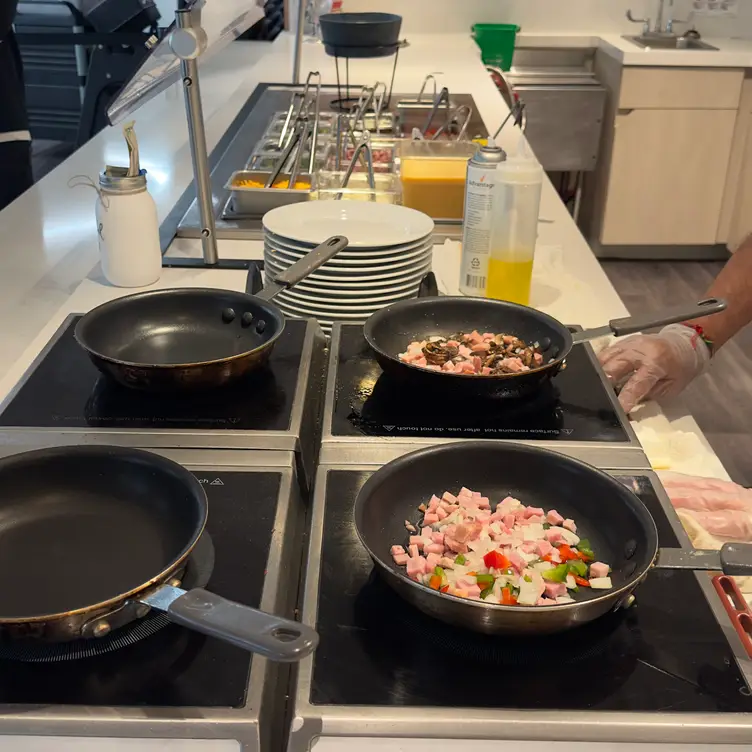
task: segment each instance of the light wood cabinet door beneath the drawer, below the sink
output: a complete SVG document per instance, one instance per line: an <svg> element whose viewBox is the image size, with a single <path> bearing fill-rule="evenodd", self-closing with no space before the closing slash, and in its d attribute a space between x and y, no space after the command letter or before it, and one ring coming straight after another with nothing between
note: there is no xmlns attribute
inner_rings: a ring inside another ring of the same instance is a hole
<svg viewBox="0 0 752 752"><path fill-rule="evenodd" d="M716 242L736 110L620 112L603 245Z"/></svg>

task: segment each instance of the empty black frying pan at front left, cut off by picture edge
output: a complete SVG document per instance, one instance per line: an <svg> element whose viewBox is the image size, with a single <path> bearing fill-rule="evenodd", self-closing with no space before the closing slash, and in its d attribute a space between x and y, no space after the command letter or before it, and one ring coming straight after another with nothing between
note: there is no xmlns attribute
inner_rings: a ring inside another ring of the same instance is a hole
<svg viewBox="0 0 752 752"><path fill-rule="evenodd" d="M94 639L154 608L272 660L316 647L303 624L176 586L207 519L201 484L177 463L118 447L43 449L0 460L0 486L1 638Z"/></svg>

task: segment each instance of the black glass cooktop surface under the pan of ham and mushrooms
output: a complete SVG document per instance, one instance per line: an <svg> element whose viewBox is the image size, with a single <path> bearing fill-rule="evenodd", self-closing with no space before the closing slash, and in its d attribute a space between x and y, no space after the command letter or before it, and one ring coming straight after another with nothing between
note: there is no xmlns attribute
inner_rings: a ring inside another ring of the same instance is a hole
<svg viewBox="0 0 752 752"><path fill-rule="evenodd" d="M334 436L628 442L595 365L575 346L567 367L525 400L453 400L415 393L385 376L363 329L341 329Z"/></svg>

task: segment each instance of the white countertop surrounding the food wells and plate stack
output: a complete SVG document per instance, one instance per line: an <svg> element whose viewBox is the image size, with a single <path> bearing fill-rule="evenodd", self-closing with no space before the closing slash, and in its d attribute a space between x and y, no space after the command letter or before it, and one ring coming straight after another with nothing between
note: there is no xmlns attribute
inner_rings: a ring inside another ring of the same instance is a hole
<svg viewBox="0 0 752 752"><path fill-rule="evenodd" d="M201 88L209 148L218 141L255 86L290 80L291 37L274 43L235 42L202 68ZM318 69L324 83L336 81L334 60L320 45L304 45L303 71ZM391 59L353 61L353 82L388 80ZM475 43L465 34L413 35L400 52L394 83L397 92L416 91L434 72L450 91L472 94L489 130L495 130L507 108L485 73ZM160 219L171 210L191 179L182 94L174 88L137 113L142 164ZM514 150L518 133L507 128L501 142ZM119 128L107 128L37 183L7 210L0 212L0 315L5 326L0 356L0 399L16 383L68 313L85 311L104 300L127 294L99 276L94 193L69 188L77 175L95 177L105 163L127 164ZM533 304L572 324L597 326L627 313L600 264L548 181L541 204L539 246ZM221 241L220 255L260 257L261 243ZM437 254L442 253L437 250ZM200 244L180 239L171 255L196 256ZM93 273L92 273L93 270ZM91 275L90 275L91 273ZM90 276L89 276L90 275ZM447 276L447 275L445 275ZM448 275L451 276L451 275ZM89 277L88 279L86 279ZM77 290L82 280L85 280ZM456 283L456 278L455 278ZM242 272L163 270L159 287L207 285L242 289ZM447 282L451 287L451 280ZM714 459L694 421L675 416L696 446ZM671 433L663 416L659 435ZM657 430L657 429L656 429ZM715 465L718 465L717 460ZM722 474L716 468L715 474Z"/></svg>

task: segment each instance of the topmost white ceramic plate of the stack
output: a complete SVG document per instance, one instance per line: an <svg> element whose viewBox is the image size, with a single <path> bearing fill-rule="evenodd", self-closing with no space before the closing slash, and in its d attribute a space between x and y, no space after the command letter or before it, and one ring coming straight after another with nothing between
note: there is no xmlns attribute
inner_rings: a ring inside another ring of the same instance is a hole
<svg viewBox="0 0 752 752"><path fill-rule="evenodd" d="M433 220L396 204L359 201L305 201L272 209L262 220L264 229L298 243L321 243L344 235L350 246L415 243L433 232Z"/></svg>

